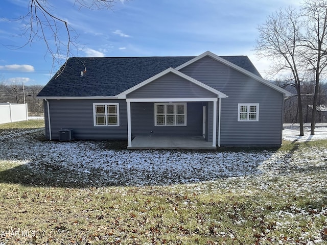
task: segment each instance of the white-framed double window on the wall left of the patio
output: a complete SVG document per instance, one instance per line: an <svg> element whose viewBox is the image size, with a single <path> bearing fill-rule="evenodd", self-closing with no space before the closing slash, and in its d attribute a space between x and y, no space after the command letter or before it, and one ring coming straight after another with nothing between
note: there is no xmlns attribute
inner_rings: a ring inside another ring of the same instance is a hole
<svg viewBox="0 0 327 245"><path fill-rule="evenodd" d="M93 119L94 126L119 126L119 104L93 104Z"/></svg>

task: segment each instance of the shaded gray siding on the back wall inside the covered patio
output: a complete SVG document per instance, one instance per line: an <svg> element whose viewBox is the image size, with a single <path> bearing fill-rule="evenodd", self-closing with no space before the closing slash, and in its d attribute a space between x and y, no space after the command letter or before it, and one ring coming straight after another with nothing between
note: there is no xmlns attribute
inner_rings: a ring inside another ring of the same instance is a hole
<svg viewBox="0 0 327 245"><path fill-rule="evenodd" d="M131 129L135 136L202 136L202 102L188 102L186 126L154 126L154 103L131 103Z"/></svg>

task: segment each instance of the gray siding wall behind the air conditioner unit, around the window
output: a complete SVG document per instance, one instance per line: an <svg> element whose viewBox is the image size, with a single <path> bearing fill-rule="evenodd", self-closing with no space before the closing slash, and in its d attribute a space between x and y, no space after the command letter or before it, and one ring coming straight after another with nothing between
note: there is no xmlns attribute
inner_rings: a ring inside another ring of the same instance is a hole
<svg viewBox="0 0 327 245"><path fill-rule="evenodd" d="M127 103L125 100L49 100L52 139L59 130L72 129L75 139L127 139ZM94 127L94 103L119 103L120 126ZM48 114L44 106L46 138L49 139Z"/></svg>

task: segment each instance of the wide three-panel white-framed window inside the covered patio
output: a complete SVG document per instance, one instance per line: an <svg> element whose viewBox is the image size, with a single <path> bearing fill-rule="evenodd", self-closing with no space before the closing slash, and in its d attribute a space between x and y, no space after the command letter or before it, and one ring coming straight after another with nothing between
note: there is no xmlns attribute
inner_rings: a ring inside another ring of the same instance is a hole
<svg viewBox="0 0 327 245"><path fill-rule="evenodd" d="M155 103L155 126L186 126L186 103Z"/></svg>

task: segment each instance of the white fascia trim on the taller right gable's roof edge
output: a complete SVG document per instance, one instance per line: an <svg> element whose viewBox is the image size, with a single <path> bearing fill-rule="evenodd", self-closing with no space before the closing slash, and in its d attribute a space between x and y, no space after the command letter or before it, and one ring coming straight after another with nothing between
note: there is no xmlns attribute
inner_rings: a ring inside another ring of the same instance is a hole
<svg viewBox="0 0 327 245"><path fill-rule="evenodd" d="M218 55L216 55L216 54L214 54L212 52L209 52L209 51L206 51L203 54L193 58L192 60L189 60L188 62L185 62L184 64L181 64L180 66L176 67L175 69L180 70L180 69L194 63L195 61L202 59L205 56L209 56L209 57L211 57L211 58L213 58L213 59L215 59L215 60L217 60L217 61L219 61L219 62L221 62L221 63L223 63L223 64L225 64L225 65L227 65L227 66L241 72L241 73L243 73L244 75L253 78L256 81L261 82L261 83L267 85L268 87L270 87L272 89L275 89L278 92L283 93L284 96L290 96L291 95L291 93L289 91L285 90L284 88L278 87L277 85L275 85L275 84L273 84L273 83L271 83L271 82L269 82L269 81L267 81L267 80L265 80L265 79L263 79L263 78L261 78L259 76L256 76L252 72L250 72L250 71L248 71L248 70L246 70L246 69L244 69L244 68L242 68L242 67L240 67L240 66L238 66L238 65L236 65L234 63L231 63L228 60L225 60L225 59L219 57Z"/></svg>

